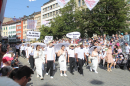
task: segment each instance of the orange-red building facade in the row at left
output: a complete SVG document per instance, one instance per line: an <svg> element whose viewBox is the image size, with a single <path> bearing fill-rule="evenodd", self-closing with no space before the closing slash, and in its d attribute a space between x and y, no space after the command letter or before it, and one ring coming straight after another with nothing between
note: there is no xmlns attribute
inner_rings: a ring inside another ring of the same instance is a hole
<svg viewBox="0 0 130 86"><path fill-rule="evenodd" d="M16 35L17 41L22 41L23 39L23 21L19 25L16 25Z"/></svg>

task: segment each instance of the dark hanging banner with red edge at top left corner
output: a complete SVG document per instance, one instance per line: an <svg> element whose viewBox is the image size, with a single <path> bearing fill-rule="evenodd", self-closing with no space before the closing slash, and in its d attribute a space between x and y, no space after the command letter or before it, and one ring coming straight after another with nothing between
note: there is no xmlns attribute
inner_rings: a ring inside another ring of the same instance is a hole
<svg viewBox="0 0 130 86"><path fill-rule="evenodd" d="M2 28L6 3L7 0L0 0L0 28Z"/></svg>

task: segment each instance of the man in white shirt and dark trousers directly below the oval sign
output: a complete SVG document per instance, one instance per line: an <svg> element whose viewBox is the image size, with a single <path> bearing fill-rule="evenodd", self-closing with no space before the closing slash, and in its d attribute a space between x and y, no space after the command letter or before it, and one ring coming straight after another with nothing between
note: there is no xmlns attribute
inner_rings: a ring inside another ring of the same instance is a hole
<svg viewBox="0 0 130 86"><path fill-rule="evenodd" d="M68 63L70 63L70 73L74 75L73 69L75 68L75 50L73 45L71 45L68 50Z"/></svg>

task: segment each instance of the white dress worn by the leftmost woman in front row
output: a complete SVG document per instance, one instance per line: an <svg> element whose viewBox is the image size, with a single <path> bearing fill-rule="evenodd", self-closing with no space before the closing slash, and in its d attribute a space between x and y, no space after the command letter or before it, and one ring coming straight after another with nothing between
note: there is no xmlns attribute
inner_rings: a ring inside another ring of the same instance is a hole
<svg viewBox="0 0 130 86"><path fill-rule="evenodd" d="M34 51L34 59L35 59L35 66L36 66L36 72L38 75L40 75L41 77L43 76L43 66L45 63L45 55L43 53L44 51ZM38 53L38 55L37 55Z"/></svg>

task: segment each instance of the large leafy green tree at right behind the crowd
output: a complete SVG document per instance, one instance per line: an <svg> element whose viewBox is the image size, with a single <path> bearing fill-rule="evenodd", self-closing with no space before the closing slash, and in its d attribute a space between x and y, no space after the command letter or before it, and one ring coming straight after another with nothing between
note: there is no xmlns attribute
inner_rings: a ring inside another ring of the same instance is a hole
<svg viewBox="0 0 130 86"><path fill-rule="evenodd" d="M82 10L82 27L89 33L100 35L122 32L129 27L126 23L129 20L128 14L129 6L124 0L100 0L92 11Z"/></svg>

